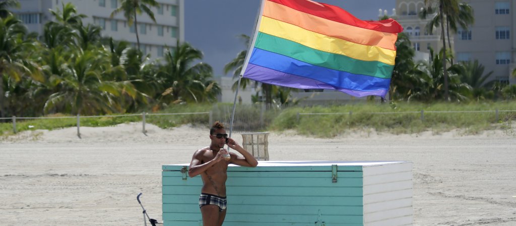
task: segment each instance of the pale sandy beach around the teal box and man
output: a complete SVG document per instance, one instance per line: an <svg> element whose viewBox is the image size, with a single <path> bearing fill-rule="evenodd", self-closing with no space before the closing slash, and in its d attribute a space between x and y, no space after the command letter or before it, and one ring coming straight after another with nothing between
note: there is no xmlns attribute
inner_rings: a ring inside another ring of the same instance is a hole
<svg viewBox="0 0 516 226"><path fill-rule="evenodd" d="M26 131L0 138L0 225L162 222L161 167L189 163L208 129L141 124ZM242 141L240 134L233 134ZM271 133L270 160L411 161L414 225L516 225L516 128L462 135ZM230 212L228 214L231 214Z"/></svg>

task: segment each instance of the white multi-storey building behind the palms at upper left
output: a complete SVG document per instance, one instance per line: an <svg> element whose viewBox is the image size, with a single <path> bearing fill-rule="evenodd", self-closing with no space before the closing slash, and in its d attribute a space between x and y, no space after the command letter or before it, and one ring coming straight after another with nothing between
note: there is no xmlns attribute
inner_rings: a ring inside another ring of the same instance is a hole
<svg viewBox="0 0 516 226"><path fill-rule="evenodd" d="M85 24L102 27L102 35L114 40L125 40L136 45L134 26L138 26L140 49L152 58L162 57L164 49L184 41L184 0L156 0L160 8L152 8L156 23L148 15L138 15L138 24L129 26L123 12L110 18L111 12L120 6L119 0L19 0L21 7L11 9L27 25L29 31L43 33L44 25L55 20L50 9L62 11L62 5L72 3L79 14L85 14Z"/></svg>

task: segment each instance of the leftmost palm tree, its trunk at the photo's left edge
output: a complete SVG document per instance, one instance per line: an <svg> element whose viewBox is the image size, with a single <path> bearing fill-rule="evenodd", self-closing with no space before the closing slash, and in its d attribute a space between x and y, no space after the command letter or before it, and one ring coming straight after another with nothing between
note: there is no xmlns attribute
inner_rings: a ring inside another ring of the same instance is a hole
<svg viewBox="0 0 516 226"><path fill-rule="evenodd" d="M35 50L35 34L27 36L27 28L13 16L0 18L0 117L5 116L4 86L9 79L20 81L23 76L43 81L40 67L31 60Z"/></svg>

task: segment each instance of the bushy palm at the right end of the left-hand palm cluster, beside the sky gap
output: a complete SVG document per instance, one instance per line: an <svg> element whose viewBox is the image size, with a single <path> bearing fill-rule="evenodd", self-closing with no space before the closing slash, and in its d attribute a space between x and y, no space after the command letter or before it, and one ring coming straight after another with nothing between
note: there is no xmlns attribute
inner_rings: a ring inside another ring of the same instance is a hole
<svg viewBox="0 0 516 226"><path fill-rule="evenodd" d="M168 104L183 101L214 101L220 93L220 86L211 78L213 69L203 62L202 52L188 43L176 44L173 50L165 54L165 65L156 75L164 84L163 93L156 97ZM195 63L195 64L194 64Z"/></svg>

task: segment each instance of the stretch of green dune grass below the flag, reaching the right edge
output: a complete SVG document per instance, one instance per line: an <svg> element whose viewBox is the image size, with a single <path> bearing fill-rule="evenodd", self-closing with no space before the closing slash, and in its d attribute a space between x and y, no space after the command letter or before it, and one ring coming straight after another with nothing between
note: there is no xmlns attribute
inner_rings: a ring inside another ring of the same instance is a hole
<svg viewBox="0 0 516 226"><path fill-rule="evenodd" d="M498 120L496 120L496 109ZM424 111L423 118L421 110ZM299 134L333 137L353 130L370 130L389 133L419 133L423 131L445 132L463 129L467 134L475 134L483 130L510 128L508 124L516 120L516 102L492 103L396 103L331 107L290 108L283 111L269 129L282 131L294 129ZM459 111L461 111L459 113ZM493 112L464 112L493 111ZM351 112L351 114L349 113ZM449 113L438 113L449 112ZM454 113L457 112L457 113ZM298 113L299 114L298 116ZM302 113L342 113L329 115L303 115Z"/></svg>

